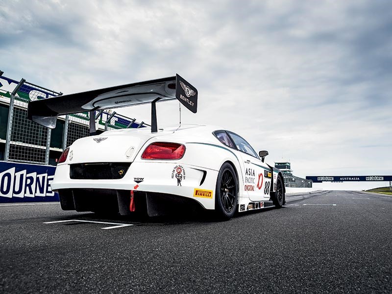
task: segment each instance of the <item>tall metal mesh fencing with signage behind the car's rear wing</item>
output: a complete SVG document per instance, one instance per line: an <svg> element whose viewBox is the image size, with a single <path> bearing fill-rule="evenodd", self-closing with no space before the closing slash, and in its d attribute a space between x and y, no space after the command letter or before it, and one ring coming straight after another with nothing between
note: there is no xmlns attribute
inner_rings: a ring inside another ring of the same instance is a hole
<svg viewBox="0 0 392 294"><path fill-rule="evenodd" d="M0 141L5 139L5 161L56 165L66 147L90 135L88 112L58 117L54 129L27 119L29 101L60 95L61 92L34 85L25 79L18 82L4 77L0 72L0 103L3 108L7 104L9 107L6 136L0 138ZM98 134L105 130L148 126L111 111L97 111L95 116Z"/></svg>

